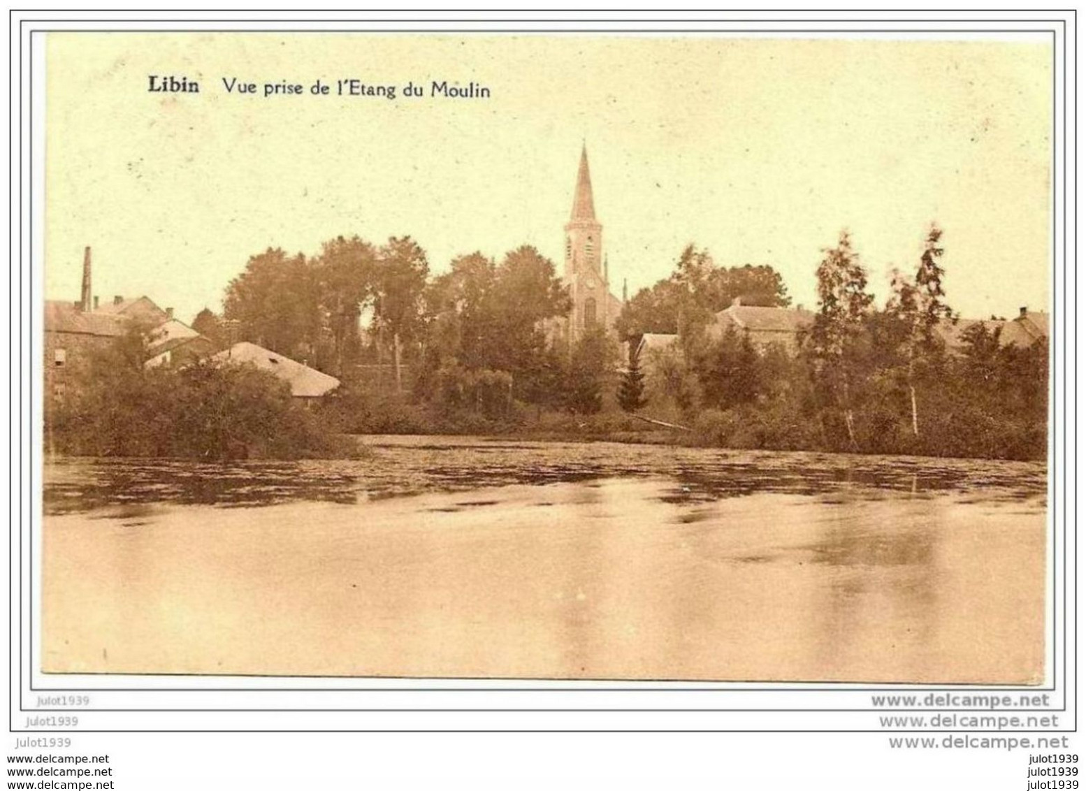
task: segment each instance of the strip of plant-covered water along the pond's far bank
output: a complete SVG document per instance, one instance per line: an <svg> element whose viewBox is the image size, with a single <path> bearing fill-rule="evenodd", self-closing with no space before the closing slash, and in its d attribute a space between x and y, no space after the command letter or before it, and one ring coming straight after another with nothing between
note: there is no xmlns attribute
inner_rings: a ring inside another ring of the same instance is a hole
<svg viewBox="0 0 1086 791"><path fill-rule="evenodd" d="M970 491L984 498L1045 493L1033 462L719 451L611 442L513 442L463 437L372 437L365 460L199 464L169 460L58 459L46 464L46 513L130 503L251 506L292 500L355 503L480 486L609 477L668 477L665 497L706 501L755 492L819 494ZM828 501L829 502L829 501Z"/></svg>

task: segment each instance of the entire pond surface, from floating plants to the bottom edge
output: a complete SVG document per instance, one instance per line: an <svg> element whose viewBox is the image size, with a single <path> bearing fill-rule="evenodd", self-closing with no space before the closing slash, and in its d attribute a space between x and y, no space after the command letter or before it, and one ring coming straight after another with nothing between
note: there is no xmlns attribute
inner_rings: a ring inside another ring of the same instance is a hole
<svg viewBox="0 0 1086 791"><path fill-rule="evenodd" d="M51 465L43 669L1041 680L1043 465L372 444Z"/></svg>

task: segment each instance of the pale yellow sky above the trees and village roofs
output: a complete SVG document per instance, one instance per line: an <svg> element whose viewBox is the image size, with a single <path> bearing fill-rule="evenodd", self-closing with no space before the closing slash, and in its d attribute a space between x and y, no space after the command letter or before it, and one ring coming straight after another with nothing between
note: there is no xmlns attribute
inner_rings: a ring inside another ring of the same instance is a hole
<svg viewBox="0 0 1086 791"><path fill-rule="evenodd" d="M148 92L149 75L201 92ZM228 95L223 78L391 85L395 100ZM534 244L561 266L582 139L611 290L687 242L815 304L853 231L882 303L945 229L963 316L1047 310L1051 49L629 36L49 34L46 290L147 294L191 321L268 247L413 236L431 272ZM490 89L430 98L431 80ZM402 99L408 81L427 96Z"/></svg>

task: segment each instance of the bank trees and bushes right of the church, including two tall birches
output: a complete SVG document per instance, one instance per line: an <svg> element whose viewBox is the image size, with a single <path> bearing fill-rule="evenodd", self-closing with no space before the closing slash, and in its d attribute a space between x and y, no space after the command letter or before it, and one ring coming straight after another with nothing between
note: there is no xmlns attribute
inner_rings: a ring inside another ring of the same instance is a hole
<svg viewBox="0 0 1086 791"><path fill-rule="evenodd" d="M651 353L648 377L648 361L631 360L628 369L709 444L1043 459L1047 339L1005 342L1000 322L959 327L943 285L942 238L933 225L914 267L895 271L888 300L876 306L843 231L822 251L818 304L794 350L711 331L706 310L672 309L693 316L669 325L675 343ZM679 276L677 269L655 290L675 290ZM687 304L720 304L714 289L699 296L704 279L687 281ZM948 348L948 335L960 341ZM622 388L639 390L630 379Z"/></svg>

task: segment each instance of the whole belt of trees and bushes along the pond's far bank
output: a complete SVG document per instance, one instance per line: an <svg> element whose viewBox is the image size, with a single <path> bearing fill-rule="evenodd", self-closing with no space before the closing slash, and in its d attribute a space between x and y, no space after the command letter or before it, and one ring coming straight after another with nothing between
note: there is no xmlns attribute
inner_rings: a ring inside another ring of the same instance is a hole
<svg viewBox="0 0 1086 791"><path fill-rule="evenodd" d="M47 405L50 437L71 452L281 456L342 449L337 434L659 440L664 423L678 427L664 439L694 444L1044 457L1047 344L1012 346L977 323L947 348L957 316L942 237L930 229L880 306L842 233L817 264L818 302L794 348L756 344L717 319L736 298L791 310L780 274L720 266L694 244L624 303L617 336L596 327L576 342L565 335L570 296L529 246L459 255L438 275L411 237L337 237L314 255L269 249L230 280L223 314L204 310L193 328L332 374L342 386L331 397L305 410L258 372L144 371L146 349L126 338L86 366L89 386ZM651 332L675 340L640 359L632 350ZM393 372L391 386L375 386L375 367ZM231 419L239 410L244 419ZM161 430L138 439L128 428L141 424Z"/></svg>

